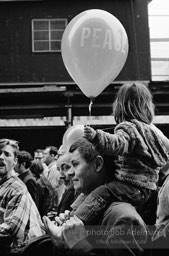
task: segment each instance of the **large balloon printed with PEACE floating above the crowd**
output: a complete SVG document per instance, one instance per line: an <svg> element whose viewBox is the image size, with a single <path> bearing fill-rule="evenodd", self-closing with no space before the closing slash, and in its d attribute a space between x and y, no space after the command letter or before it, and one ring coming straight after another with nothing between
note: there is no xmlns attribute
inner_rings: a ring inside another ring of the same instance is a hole
<svg viewBox="0 0 169 256"><path fill-rule="evenodd" d="M109 12L86 10L67 25L61 53L72 79L87 97L94 98L122 70L128 55L127 34Z"/></svg>

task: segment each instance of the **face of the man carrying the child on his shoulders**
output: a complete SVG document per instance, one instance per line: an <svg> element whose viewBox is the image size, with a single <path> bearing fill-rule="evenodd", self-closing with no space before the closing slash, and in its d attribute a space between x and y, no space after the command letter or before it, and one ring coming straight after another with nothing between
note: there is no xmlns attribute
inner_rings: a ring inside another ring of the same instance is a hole
<svg viewBox="0 0 169 256"><path fill-rule="evenodd" d="M74 189L79 193L89 194L97 179L94 163L87 163L79 151L75 150L72 153L71 165L69 175L72 177Z"/></svg>

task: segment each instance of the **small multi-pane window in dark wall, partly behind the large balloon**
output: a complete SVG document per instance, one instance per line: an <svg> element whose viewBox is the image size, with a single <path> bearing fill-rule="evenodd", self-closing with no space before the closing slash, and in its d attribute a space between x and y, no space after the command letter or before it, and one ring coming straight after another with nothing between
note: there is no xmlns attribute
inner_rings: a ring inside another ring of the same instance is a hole
<svg viewBox="0 0 169 256"><path fill-rule="evenodd" d="M60 52L67 19L32 20L32 51Z"/></svg>

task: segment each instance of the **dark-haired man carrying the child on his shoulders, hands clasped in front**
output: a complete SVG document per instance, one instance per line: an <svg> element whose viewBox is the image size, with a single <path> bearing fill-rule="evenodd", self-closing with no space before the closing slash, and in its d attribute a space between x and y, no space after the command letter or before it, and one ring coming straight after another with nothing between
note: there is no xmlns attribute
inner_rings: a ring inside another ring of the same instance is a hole
<svg viewBox="0 0 169 256"><path fill-rule="evenodd" d="M143 253L148 241L148 230L131 204L123 202L111 204L104 214L96 216L98 225L94 221L92 226L84 227L84 223L76 216L76 211L85 198L96 187L112 179L111 168L114 168L114 164L110 158L102 157L92 143L84 138L73 143L69 151L72 155L69 175L72 177L74 189L80 195L72 204L71 212L65 211L55 218L57 225L48 217L43 217L47 233L56 247L55 255L58 255L58 248L61 247L60 241L63 242L62 253L68 252L68 255L140 255ZM103 200L101 204L100 207L104 207ZM67 251L67 247L70 250Z"/></svg>

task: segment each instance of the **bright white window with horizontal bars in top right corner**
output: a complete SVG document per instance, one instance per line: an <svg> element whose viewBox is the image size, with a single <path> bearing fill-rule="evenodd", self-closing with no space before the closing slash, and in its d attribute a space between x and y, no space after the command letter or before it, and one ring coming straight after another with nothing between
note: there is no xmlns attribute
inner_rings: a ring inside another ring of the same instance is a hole
<svg viewBox="0 0 169 256"><path fill-rule="evenodd" d="M152 81L169 80L169 3L153 0L149 4Z"/></svg>

